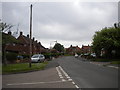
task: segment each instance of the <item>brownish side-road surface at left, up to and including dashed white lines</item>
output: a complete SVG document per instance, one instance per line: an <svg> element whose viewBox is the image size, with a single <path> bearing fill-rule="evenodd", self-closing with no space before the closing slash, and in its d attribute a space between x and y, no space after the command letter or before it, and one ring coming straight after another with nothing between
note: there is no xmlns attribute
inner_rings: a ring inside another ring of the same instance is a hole
<svg viewBox="0 0 120 90"><path fill-rule="evenodd" d="M68 76L69 77L69 76ZM77 88L55 61L44 70L2 76L2 88Z"/></svg>

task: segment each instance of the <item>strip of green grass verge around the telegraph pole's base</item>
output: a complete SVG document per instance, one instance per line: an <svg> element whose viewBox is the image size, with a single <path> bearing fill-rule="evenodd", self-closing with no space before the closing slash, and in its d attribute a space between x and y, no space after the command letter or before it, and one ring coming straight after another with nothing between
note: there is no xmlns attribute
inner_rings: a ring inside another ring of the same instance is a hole
<svg viewBox="0 0 120 90"><path fill-rule="evenodd" d="M42 70L47 64L47 61L44 63L32 63L31 68L29 67L29 63L8 64L7 66L2 66L2 74Z"/></svg>

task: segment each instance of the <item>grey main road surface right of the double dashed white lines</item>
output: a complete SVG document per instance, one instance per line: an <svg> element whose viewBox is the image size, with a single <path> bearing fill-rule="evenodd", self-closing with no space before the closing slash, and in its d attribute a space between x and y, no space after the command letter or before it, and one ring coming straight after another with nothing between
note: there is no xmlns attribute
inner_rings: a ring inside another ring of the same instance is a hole
<svg viewBox="0 0 120 90"><path fill-rule="evenodd" d="M58 58L57 61L80 88L118 88L118 69L73 56Z"/></svg>

